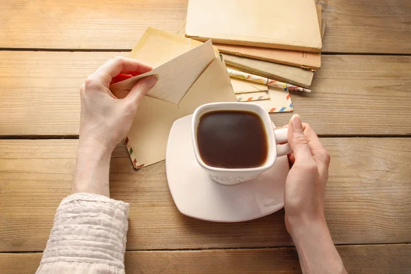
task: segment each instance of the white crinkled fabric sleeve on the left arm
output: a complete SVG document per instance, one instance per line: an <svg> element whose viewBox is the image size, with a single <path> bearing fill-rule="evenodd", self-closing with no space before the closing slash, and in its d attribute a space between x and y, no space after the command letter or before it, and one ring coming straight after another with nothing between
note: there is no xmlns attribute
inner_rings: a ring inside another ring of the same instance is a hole
<svg viewBox="0 0 411 274"><path fill-rule="evenodd" d="M64 198L36 273L125 273L128 215L128 203L105 196Z"/></svg>

